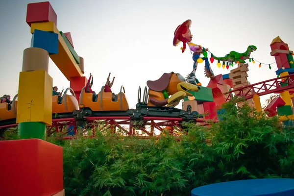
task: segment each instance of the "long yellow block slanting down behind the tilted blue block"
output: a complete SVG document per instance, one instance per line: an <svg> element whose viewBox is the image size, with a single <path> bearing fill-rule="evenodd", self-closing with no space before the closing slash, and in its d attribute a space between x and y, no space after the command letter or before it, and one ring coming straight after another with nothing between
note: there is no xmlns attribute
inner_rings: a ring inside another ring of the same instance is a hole
<svg viewBox="0 0 294 196"><path fill-rule="evenodd" d="M70 49L67 47L59 30L53 22L33 23L31 25L31 33L33 33L35 29L58 34L58 53L49 55L49 57L68 80L70 80L71 77L83 76L83 73L75 62Z"/></svg>

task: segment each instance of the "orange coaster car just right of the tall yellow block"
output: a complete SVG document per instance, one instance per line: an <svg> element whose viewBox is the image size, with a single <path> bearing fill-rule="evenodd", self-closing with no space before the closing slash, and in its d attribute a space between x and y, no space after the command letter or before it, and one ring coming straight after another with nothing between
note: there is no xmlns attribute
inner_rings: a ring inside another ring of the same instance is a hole
<svg viewBox="0 0 294 196"><path fill-rule="evenodd" d="M68 91L71 91L73 95L67 95ZM67 88L62 96L62 101L58 101L58 96L52 96L52 114L72 113L74 110L79 110L77 99L73 89Z"/></svg>

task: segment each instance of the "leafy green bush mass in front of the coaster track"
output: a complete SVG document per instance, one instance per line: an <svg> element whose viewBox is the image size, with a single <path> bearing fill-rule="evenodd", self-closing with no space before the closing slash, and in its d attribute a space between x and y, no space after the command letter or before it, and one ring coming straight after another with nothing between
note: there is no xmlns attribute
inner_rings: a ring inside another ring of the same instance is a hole
<svg viewBox="0 0 294 196"><path fill-rule="evenodd" d="M198 186L241 179L294 178L293 128L248 105L224 106L210 127L186 123L180 138L110 133L50 142L63 147L64 187L71 196L187 196Z"/></svg>

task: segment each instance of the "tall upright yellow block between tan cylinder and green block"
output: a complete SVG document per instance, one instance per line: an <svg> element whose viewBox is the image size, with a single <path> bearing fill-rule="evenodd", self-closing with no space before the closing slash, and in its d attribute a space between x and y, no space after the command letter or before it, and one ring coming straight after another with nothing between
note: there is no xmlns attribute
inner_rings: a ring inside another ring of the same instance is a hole
<svg viewBox="0 0 294 196"><path fill-rule="evenodd" d="M45 70L21 72L16 123L52 124L52 78Z"/></svg>

